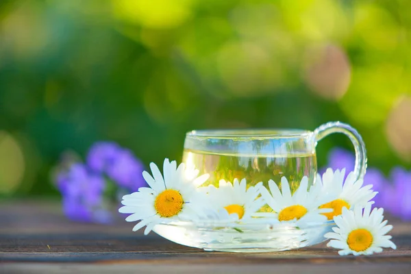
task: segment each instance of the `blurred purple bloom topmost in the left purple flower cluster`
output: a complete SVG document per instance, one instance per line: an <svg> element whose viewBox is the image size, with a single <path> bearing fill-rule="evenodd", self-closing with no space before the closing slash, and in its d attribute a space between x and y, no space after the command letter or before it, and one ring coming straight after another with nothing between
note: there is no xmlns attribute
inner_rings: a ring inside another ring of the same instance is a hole
<svg viewBox="0 0 411 274"><path fill-rule="evenodd" d="M121 147L115 142L96 142L87 155L87 165L97 172L104 172L114 162Z"/></svg>

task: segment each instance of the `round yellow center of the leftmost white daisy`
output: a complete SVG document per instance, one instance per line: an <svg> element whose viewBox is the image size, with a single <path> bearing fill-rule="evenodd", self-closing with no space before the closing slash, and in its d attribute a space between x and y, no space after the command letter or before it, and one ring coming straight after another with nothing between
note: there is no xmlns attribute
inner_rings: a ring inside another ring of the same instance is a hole
<svg viewBox="0 0 411 274"><path fill-rule="evenodd" d="M166 189L155 198L154 208L160 216L169 218L182 211L183 203L183 197L177 190Z"/></svg>

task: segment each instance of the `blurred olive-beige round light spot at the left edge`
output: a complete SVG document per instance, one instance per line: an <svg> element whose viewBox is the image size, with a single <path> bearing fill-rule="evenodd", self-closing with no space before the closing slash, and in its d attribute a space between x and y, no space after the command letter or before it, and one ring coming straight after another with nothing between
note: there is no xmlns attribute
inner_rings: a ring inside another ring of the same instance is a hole
<svg viewBox="0 0 411 274"><path fill-rule="evenodd" d="M0 131L0 194L11 194L20 186L25 172L21 145L8 132Z"/></svg>

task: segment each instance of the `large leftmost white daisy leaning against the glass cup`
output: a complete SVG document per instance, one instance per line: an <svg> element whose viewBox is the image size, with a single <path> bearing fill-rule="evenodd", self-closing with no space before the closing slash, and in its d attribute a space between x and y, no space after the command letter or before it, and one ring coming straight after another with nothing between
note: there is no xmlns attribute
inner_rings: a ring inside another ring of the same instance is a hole
<svg viewBox="0 0 411 274"><path fill-rule="evenodd" d="M147 226L146 235L159 223L179 221L180 216L195 214L199 206L199 203L193 203L197 188L209 177L208 174L197 177L198 170L187 175L184 163L177 168L177 163L169 162L169 159L164 160L164 177L154 163L150 168L153 177L147 171L142 173L150 188L139 188L138 192L123 196L121 203L124 206L119 209L121 213L132 213L125 221L141 220L133 231Z"/></svg>

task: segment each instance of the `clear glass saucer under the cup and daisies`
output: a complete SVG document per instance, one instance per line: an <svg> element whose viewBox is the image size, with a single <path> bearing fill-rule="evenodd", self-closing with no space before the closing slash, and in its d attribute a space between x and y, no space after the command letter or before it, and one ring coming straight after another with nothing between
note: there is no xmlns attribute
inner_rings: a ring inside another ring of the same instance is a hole
<svg viewBox="0 0 411 274"><path fill-rule="evenodd" d="M155 225L153 231L180 245L206 251L270 252L316 245L325 240L324 234L334 225L334 221L304 227L284 223L221 226L175 222Z"/></svg>

